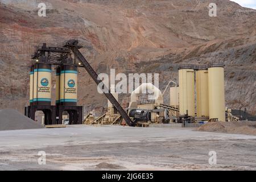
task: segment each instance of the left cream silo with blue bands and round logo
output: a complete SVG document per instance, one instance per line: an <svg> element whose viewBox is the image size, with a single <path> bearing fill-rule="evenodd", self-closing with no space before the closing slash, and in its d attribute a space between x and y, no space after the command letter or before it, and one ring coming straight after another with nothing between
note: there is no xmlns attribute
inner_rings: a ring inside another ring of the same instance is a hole
<svg viewBox="0 0 256 182"><path fill-rule="evenodd" d="M51 64L34 64L33 105L51 105Z"/></svg>

